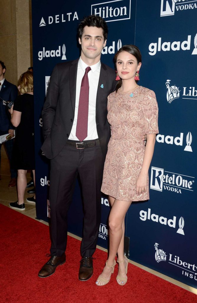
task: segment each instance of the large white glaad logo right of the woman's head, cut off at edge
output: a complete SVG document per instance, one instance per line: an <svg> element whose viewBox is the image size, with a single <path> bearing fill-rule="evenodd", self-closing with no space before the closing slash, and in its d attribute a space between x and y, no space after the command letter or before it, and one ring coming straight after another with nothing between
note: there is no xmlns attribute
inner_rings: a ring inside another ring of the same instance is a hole
<svg viewBox="0 0 197 303"><path fill-rule="evenodd" d="M192 55L197 55L197 34L194 38L194 50ZM158 42L149 44L149 55L154 56L156 52L169 52L169 51L183 51L190 50L191 47L191 35L187 36L187 40L184 41L173 41L173 42L163 42L161 41L161 37L158 38Z"/></svg>

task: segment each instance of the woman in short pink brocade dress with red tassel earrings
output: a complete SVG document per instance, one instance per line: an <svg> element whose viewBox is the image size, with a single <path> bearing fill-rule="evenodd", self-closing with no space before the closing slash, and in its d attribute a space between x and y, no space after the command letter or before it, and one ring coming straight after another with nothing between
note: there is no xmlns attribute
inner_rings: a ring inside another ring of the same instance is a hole
<svg viewBox="0 0 197 303"><path fill-rule="evenodd" d="M132 201L149 199L148 170L158 131L155 93L139 86L141 53L135 45L124 45L114 56L120 80L108 97L107 119L111 138L103 172L101 191L109 196L109 257L96 284L110 281L118 256L117 283L127 281L128 259L124 255L124 218ZM146 134L146 147L142 141Z"/></svg>

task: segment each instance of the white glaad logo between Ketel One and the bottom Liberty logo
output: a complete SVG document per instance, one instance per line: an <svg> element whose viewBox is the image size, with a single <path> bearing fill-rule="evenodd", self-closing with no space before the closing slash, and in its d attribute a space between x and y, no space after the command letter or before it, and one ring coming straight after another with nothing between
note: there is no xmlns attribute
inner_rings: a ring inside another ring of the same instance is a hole
<svg viewBox="0 0 197 303"><path fill-rule="evenodd" d="M163 216L159 217L159 215L151 214L151 209L150 208L148 208L148 212L144 211L144 210L140 211L140 220L142 220L142 221L152 220L154 222L161 223L163 225L168 225L169 227L176 228L176 216L173 216L173 219L167 219ZM177 233L179 233L181 235L184 235L183 227L184 227L184 220L181 217L179 219L179 229L177 230Z"/></svg>

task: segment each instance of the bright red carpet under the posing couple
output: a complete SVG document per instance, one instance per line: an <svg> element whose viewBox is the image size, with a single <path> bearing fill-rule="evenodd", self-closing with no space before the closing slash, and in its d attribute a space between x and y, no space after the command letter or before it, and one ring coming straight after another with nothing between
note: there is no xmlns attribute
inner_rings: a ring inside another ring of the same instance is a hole
<svg viewBox="0 0 197 303"><path fill-rule="evenodd" d="M78 280L80 241L68 237L64 265L48 278L38 271L48 260L50 238L46 225L0 204L1 222L1 303L194 303L197 296L134 265L128 266L128 282L119 286L117 268L106 286L95 281L107 258L96 250L93 277Z"/></svg>

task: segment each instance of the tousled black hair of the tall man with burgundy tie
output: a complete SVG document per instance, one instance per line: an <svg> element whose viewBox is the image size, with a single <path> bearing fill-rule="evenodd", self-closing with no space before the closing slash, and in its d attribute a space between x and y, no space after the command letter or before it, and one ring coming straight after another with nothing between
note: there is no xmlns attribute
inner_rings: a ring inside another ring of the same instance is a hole
<svg viewBox="0 0 197 303"><path fill-rule="evenodd" d="M104 41L107 39L108 27L107 23L99 16L91 15L81 20L78 26L78 36L81 39L85 26L96 26L103 29Z"/></svg>

